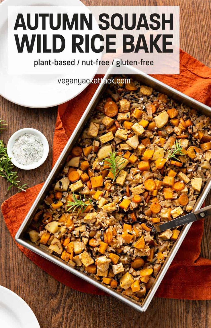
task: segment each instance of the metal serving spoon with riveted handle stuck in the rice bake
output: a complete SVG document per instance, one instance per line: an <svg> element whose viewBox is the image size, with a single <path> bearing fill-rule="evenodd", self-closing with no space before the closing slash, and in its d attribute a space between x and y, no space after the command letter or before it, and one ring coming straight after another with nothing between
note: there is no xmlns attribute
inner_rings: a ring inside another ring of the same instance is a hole
<svg viewBox="0 0 211 328"><path fill-rule="evenodd" d="M157 224L154 226L149 226L146 224L146 226L151 229L151 232L153 234L155 234L155 233L165 231L167 229L173 229L178 226L183 226L190 222L194 222L194 221L201 220L203 218L207 218L208 216L211 216L211 205L203 207L198 211L177 217L176 219L171 220L167 223L161 223L161 224ZM136 223L136 222L133 222L133 223Z"/></svg>

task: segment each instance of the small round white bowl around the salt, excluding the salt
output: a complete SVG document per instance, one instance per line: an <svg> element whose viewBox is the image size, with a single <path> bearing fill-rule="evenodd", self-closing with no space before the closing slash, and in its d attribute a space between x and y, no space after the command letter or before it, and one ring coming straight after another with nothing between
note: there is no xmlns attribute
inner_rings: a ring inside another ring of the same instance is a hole
<svg viewBox="0 0 211 328"><path fill-rule="evenodd" d="M41 139L41 141L43 143L43 148L44 148L42 158L38 162L30 164L30 165L22 165L22 164L18 163L13 158L13 155L12 155L12 148L13 148L13 144L14 144L15 140L25 133L37 135ZM8 153L8 156L11 158L12 164L14 164L19 169L33 170L33 169L36 169L37 167L41 166L44 163L44 161L46 160L46 158L48 157L48 153L49 153L48 140L46 139L44 134L42 134L40 131L38 131L36 129L32 129L32 128L21 129L21 130L16 131L15 133L13 133L12 136L9 138L9 141L7 144L7 153Z"/></svg>

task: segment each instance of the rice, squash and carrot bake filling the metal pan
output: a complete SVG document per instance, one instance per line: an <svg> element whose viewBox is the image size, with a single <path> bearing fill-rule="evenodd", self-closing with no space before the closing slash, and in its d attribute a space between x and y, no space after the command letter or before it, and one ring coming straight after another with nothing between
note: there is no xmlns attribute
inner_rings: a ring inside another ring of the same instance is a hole
<svg viewBox="0 0 211 328"><path fill-rule="evenodd" d="M210 118L138 81L108 85L27 237L142 302L210 177Z"/></svg>

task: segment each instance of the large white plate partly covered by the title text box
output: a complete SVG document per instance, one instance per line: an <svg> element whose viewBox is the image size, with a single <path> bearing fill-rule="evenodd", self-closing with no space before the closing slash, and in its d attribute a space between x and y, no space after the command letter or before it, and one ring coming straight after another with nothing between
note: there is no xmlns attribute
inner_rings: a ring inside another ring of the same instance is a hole
<svg viewBox="0 0 211 328"><path fill-rule="evenodd" d="M0 95L25 107L44 108L62 104L81 93L88 84L74 88L57 83L65 75L10 75L8 61L8 6L79 6L79 0L4 0L0 4ZM90 71L92 79L94 70ZM70 76L69 76L70 77Z"/></svg>

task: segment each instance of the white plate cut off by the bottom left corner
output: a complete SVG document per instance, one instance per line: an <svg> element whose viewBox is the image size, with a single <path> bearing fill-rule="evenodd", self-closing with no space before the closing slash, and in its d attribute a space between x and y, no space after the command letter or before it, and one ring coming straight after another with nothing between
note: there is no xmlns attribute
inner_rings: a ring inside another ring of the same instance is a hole
<svg viewBox="0 0 211 328"><path fill-rule="evenodd" d="M0 326L9 328L40 328L30 307L11 290L0 286Z"/></svg>

